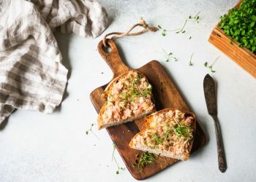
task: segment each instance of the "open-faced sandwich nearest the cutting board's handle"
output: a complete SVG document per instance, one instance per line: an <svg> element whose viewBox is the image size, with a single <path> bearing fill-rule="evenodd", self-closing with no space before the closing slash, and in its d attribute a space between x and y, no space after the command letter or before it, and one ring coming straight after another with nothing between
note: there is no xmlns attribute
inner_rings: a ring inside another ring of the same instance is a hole
<svg viewBox="0 0 256 182"><path fill-rule="evenodd" d="M102 96L107 102L99 111L99 129L140 119L155 111L151 84L138 71L113 79Z"/></svg>

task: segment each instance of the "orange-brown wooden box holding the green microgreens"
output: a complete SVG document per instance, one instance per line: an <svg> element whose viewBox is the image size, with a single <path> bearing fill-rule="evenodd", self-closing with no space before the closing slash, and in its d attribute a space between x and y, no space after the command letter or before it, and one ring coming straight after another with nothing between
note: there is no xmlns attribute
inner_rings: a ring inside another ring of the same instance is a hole
<svg viewBox="0 0 256 182"><path fill-rule="evenodd" d="M238 1L235 7L238 7L241 2L242 1ZM208 41L256 79L256 55L246 47L238 47L238 42L230 39L230 37L219 28L219 23L214 27Z"/></svg>

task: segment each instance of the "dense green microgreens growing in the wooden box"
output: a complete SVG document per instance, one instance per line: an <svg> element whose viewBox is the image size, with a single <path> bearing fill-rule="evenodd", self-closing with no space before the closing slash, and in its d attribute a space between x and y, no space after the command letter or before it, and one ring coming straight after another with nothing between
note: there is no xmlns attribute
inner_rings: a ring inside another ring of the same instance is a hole
<svg viewBox="0 0 256 182"><path fill-rule="evenodd" d="M227 36L256 53L256 0L244 0L220 19L219 27Z"/></svg>

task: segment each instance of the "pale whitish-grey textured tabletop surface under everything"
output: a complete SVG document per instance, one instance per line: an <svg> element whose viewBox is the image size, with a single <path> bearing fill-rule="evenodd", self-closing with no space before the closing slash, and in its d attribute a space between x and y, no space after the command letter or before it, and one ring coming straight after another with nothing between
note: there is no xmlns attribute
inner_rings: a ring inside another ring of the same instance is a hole
<svg viewBox="0 0 256 182"><path fill-rule="evenodd" d="M105 33L124 31L144 17L148 23L179 28L190 14L200 13L200 23L187 23L186 33L145 33L117 40L128 66L139 68L159 60L176 82L190 108L195 111L208 142L187 162L178 162L146 181L255 181L256 81L208 43L208 36L219 16L236 0L196 1L99 1L107 10L111 24ZM189 36L192 39L189 40ZM53 114L15 111L0 130L0 181L135 181L128 170L116 175L111 162L112 142L105 130L86 135L96 123L97 113L89 94L107 83L112 73L97 52L102 39L83 39L56 33L56 39L69 68L67 94ZM178 62L165 63L161 48L173 52ZM194 66L189 67L189 57ZM227 156L227 171L217 167L214 123L208 116L203 96L203 77L209 72L204 61L220 55L211 74L218 84L219 121ZM102 72L104 74L102 74ZM124 167L121 157L115 154Z"/></svg>

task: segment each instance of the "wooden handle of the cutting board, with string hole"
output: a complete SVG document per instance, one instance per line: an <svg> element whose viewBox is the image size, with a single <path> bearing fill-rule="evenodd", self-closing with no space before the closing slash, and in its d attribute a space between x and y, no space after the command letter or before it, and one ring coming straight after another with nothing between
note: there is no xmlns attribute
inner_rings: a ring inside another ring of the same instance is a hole
<svg viewBox="0 0 256 182"><path fill-rule="evenodd" d="M114 77L129 71L129 68L123 63L118 53L116 44L113 40L108 39L108 46L110 47L110 52L107 52L107 48L104 47L103 41L99 41L98 51L102 58L108 63L111 70L113 71Z"/></svg>

